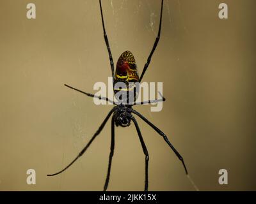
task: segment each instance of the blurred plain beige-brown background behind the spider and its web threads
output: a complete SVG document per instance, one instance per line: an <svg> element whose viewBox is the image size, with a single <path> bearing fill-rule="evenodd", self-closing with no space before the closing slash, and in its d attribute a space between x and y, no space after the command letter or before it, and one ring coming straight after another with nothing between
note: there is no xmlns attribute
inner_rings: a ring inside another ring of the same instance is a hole
<svg viewBox="0 0 256 204"><path fill-rule="evenodd" d="M36 19L26 5L36 4ZM125 50L139 72L156 38L161 1L104 0L106 30L116 63ZM144 81L163 82L161 112L136 106L168 135L202 191L256 190L254 0L225 0L228 20L214 0L164 1L161 40ZM110 66L98 1L0 1L0 190L102 191L110 125L65 173L111 105L93 92L108 82ZM182 164L138 119L150 153L150 191L194 191ZM26 171L36 170L36 185ZM228 170L228 185L218 171ZM144 189L144 155L134 126L116 129L109 191Z"/></svg>

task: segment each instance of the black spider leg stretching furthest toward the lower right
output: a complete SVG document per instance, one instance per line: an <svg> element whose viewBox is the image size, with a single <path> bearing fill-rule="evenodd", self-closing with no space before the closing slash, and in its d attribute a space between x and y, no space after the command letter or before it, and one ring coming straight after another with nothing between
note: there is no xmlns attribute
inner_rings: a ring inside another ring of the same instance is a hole
<svg viewBox="0 0 256 204"><path fill-rule="evenodd" d="M166 143L168 143L168 145L171 147L171 149L173 150L173 152L176 154L176 156L180 159L180 161L182 162L183 166L184 166L184 170L186 171L186 174L188 175L188 170L186 168L186 165L184 163L184 159L182 158L182 156L180 156L179 152L173 147L172 143L169 142L167 136L160 130L158 129L154 124L152 124L151 122L149 122L143 115L141 115L141 113L136 112L136 110L132 109L132 113L138 115L138 117L140 117L142 120L144 120L151 128L153 128L159 135L163 136L164 141Z"/></svg>

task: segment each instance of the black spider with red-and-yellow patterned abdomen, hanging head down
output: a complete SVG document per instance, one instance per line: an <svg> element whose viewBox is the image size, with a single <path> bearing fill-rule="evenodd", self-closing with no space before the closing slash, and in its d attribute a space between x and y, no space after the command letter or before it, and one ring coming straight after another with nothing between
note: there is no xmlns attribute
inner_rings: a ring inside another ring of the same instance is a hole
<svg viewBox="0 0 256 204"><path fill-rule="evenodd" d="M134 56L129 51L125 51L122 55L120 55L120 57L117 61L117 64L116 64L116 71L115 71L115 75L114 75L114 63L113 63L113 58L112 58L112 54L111 54L111 49L109 47L108 36L106 34L106 29L105 29L105 25L104 25L104 18L103 18L103 13L102 13L102 4L101 4L100 0L99 0L99 4L100 4L100 15L101 15L101 20L102 20L104 40L105 40L105 43L106 43L106 47L108 48L108 54L109 54L109 61L110 61L110 66L111 66L113 84L116 84L117 82L125 82L125 83L127 83L127 82L139 82L140 83L144 74L145 74L145 72L147 71L148 65L150 64L150 61L151 61L151 57L154 54L154 51L156 50L156 47L157 47L157 43L160 39L161 22L162 22L162 14L163 14L163 0L161 1L161 14L160 14L158 34L157 34L156 40L154 42L154 46L153 46L153 48L152 48L152 50L151 50L151 52L148 56L147 62L145 64L144 68L143 68L143 71L141 73L140 78L139 78L139 75L138 75L137 66L136 66ZM58 171L57 173L54 173L54 174L49 174L47 176L54 176L54 175L58 175L58 174L62 173L63 171L67 170L67 168L70 167L79 157L81 157L84 154L84 152L88 149L88 147L90 147L90 145L92 144L93 140L97 137L97 135L100 134L100 132L102 131L102 129L104 128L104 126L108 122L109 118L113 114L112 119L111 119L111 147L110 147L109 162L108 162L108 173L107 173L107 176L106 176L106 182L105 182L103 190L106 191L107 188L108 188L108 184L109 184L109 177L110 177L110 171L111 171L111 162L112 162L114 149L115 149L115 126L116 127L117 126L127 127L127 126L130 126L131 121L132 121L135 125L136 131L137 131L138 136L140 138L140 143L141 143L143 152L145 154L145 189L144 190L148 191L148 160L149 160L148 150L147 150L147 147L146 147L145 142L143 140L143 137L141 135L141 131L140 131L140 128L138 126L138 122L136 121L136 119L134 118L132 113L134 113L135 115L140 117L142 120L144 120L159 135L163 136L164 141L170 146L170 148L173 150L173 152L175 152L176 156L182 162L182 164L184 166L184 170L186 171L186 175L188 175L188 171L187 171L187 168L186 168L186 165L184 163L184 160L183 160L182 156L180 156L179 152L173 147L172 143L169 142L167 136L159 128L157 128L154 124L152 124L149 120L147 120L143 115L141 115L141 113L137 112L136 110L134 110L132 108L133 105L143 105L143 104L163 102L163 101L165 101L165 98L163 96L161 96L162 97L161 99L143 101L143 102L140 102L140 103L133 103L131 105L128 105L128 104L125 104L125 103L116 104L114 101L111 101L108 98L104 98L102 96L95 96L94 94L89 94L87 92L84 92L84 91L81 91L81 90L76 89L74 87L71 87L67 84L65 84L65 86L67 86L68 88L73 89L75 91L81 92L81 93L85 94L86 96L95 97L95 98L98 98L98 99L109 101L110 103L112 103L115 106L110 110L107 117L104 119L104 121L100 125L99 129L92 136L92 138L87 143L87 145L83 148L83 150L81 150L81 152L77 155L77 157L70 164L68 164L68 166L66 166L63 170ZM113 91L116 93L115 89ZM127 92L129 92L129 87L127 87Z"/></svg>

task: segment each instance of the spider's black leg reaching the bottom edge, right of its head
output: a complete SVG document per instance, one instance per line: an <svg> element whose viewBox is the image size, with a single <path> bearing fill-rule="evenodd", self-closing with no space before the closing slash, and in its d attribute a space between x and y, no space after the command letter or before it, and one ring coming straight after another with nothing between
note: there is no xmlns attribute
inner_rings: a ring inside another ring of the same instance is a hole
<svg viewBox="0 0 256 204"><path fill-rule="evenodd" d="M136 121L136 119L134 117L132 117L131 119L132 119L132 121L133 121L133 123L136 127L138 136L140 138L140 143L141 143L143 152L145 154L145 190L144 191L148 191L148 160L149 160L148 150L147 150L147 147L146 147L145 142L143 140L143 137L141 135L140 127L138 125L138 122Z"/></svg>

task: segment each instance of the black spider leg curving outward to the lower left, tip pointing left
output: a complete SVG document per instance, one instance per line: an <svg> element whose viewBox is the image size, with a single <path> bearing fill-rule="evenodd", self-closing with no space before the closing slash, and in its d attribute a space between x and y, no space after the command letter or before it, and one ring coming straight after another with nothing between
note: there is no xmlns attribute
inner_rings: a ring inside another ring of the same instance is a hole
<svg viewBox="0 0 256 204"><path fill-rule="evenodd" d="M63 168L63 170L58 171L57 173L53 173L53 174L48 174L47 176L54 176L54 175L58 175L60 173L62 173L63 171L67 170L67 168L69 166L71 166L79 157L81 157L84 152L88 149L88 147L91 145L91 143L93 142L93 140L96 138L97 135L100 134L100 132L102 131L102 129L104 128L104 126L106 125L106 123L108 122L109 117L111 116L111 114L115 111L115 108L112 108L112 110L108 113L107 117L104 119L104 121L102 122L102 124L100 125L99 129L96 131L96 133L93 135L93 137L91 138L91 140L87 143L87 145L83 148L83 150L81 150L81 152L77 155L77 157L70 163L68 164L68 166L66 166L65 168Z"/></svg>

